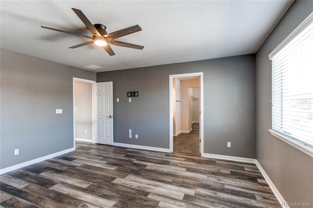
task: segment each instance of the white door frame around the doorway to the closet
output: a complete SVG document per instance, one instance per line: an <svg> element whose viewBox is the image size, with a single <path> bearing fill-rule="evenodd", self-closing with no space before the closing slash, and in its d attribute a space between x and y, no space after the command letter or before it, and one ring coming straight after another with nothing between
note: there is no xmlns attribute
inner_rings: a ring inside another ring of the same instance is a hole
<svg viewBox="0 0 313 208"><path fill-rule="evenodd" d="M201 139L201 156L203 156L203 72L188 73L188 74L174 74L169 75L169 101L170 101L170 152L173 152L173 79L181 77L198 77L200 76L200 139Z"/></svg>

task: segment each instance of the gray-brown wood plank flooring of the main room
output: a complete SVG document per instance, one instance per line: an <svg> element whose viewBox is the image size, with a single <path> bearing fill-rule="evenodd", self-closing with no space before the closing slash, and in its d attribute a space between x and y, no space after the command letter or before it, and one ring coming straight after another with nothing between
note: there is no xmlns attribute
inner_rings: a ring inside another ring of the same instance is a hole
<svg viewBox="0 0 313 208"><path fill-rule="evenodd" d="M279 208L254 164L77 142L0 175L5 208Z"/></svg>

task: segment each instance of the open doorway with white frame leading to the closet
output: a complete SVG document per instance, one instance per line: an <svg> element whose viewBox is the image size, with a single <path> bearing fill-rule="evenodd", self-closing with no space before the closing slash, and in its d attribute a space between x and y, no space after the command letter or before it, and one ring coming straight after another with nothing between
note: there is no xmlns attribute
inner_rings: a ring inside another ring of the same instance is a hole
<svg viewBox="0 0 313 208"><path fill-rule="evenodd" d="M203 154L203 73L170 75L170 152Z"/></svg>

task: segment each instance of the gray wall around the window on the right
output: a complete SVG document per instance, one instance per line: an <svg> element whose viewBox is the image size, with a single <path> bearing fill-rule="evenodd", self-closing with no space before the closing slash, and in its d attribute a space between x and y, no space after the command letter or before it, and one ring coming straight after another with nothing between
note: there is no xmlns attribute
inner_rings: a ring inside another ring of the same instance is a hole
<svg viewBox="0 0 313 208"><path fill-rule="evenodd" d="M313 1L295 1L256 54L257 160L289 202L313 205L313 158L271 136L272 52L311 12Z"/></svg>

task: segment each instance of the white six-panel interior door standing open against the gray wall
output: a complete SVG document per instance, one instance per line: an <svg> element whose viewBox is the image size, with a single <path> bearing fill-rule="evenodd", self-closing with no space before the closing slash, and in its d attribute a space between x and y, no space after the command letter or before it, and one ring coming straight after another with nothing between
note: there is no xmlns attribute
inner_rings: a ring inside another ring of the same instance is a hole
<svg viewBox="0 0 313 208"><path fill-rule="evenodd" d="M113 144L112 82L94 83L94 143Z"/></svg>

